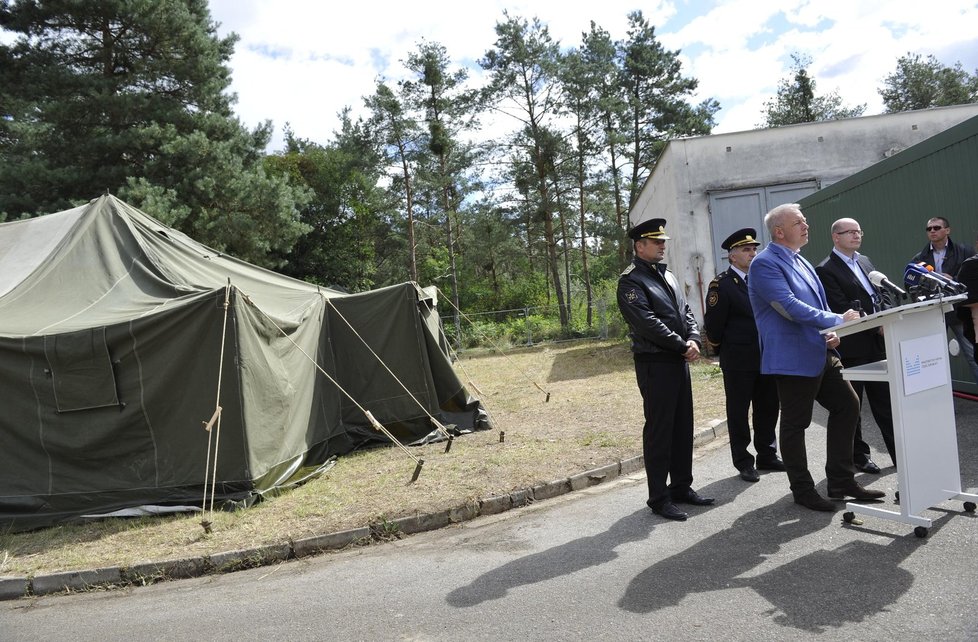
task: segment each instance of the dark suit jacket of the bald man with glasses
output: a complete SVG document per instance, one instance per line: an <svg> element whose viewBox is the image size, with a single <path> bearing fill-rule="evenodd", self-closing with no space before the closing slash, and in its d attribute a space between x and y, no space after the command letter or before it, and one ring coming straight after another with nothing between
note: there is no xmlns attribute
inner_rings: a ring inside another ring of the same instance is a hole
<svg viewBox="0 0 978 642"><path fill-rule="evenodd" d="M862 254L856 254L856 263L866 275L866 279L869 280L869 273L876 269L873 267L873 263ZM863 312L866 314L892 307L889 293L874 286L873 290L876 291L878 301L880 301L880 305L876 306L866 288L862 286L849 266L835 252L831 252L824 261L819 263L815 271L822 281L822 287L825 288L825 298L829 302L829 309L833 312L842 314L850 308L855 308L853 301L859 301ZM877 328L843 337L838 351L842 356L843 365L872 363L886 358L883 335L879 333Z"/></svg>

